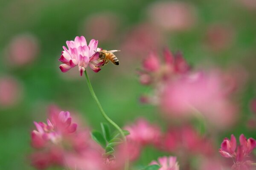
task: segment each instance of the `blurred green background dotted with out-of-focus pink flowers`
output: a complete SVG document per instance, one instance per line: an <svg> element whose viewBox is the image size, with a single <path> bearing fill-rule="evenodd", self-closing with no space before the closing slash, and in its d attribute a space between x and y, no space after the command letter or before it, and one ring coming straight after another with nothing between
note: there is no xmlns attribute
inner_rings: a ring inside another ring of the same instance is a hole
<svg viewBox="0 0 256 170"><path fill-rule="evenodd" d="M231 133L256 138L255 122L248 124L255 117L250 109L256 97L255 0L0 0L0 33L1 170L34 169L27 159L30 132L33 121L46 120L50 104L79 114L90 127L104 122L78 68L67 73L58 68L62 46L77 35L121 50L119 66L89 71L103 108L119 125L137 117L162 129L169 125L157 107L140 103L148 87L137 75L151 50L169 47L182 51L193 68L217 67L241 80L232 96L239 121L221 130L216 144ZM143 152L137 164L162 155L150 147Z"/></svg>

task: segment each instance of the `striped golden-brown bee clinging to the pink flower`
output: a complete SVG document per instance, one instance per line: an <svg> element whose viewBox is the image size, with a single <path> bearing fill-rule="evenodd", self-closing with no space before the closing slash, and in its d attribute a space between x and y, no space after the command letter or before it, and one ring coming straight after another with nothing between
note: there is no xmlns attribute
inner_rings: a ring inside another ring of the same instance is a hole
<svg viewBox="0 0 256 170"><path fill-rule="evenodd" d="M101 50L101 51L99 51L99 58L104 61L103 65L108 64L109 61L111 61L114 65L119 65L119 60L113 54L116 51L120 51L120 50L110 50L110 51Z"/></svg>

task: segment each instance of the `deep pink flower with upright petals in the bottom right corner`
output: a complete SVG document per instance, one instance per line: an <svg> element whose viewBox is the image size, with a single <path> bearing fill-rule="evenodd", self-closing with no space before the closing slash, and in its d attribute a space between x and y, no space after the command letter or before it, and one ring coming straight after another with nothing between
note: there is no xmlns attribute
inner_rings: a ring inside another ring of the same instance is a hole
<svg viewBox="0 0 256 170"><path fill-rule="evenodd" d="M231 135L231 138L225 138L221 143L219 153L226 158L235 158L237 162L243 162L245 157L250 154L256 147L256 140L253 138L246 139L243 134L239 137L240 145L237 147L236 138Z"/></svg>

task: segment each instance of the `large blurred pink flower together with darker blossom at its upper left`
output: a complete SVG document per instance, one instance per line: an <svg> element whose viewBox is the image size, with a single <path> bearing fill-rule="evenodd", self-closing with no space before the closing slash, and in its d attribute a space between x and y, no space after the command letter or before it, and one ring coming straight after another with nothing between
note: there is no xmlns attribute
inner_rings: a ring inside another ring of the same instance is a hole
<svg viewBox="0 0 256 170"><path fill-rule="evenodd" d="M236 120L236 106L230 100L235 80L218 70L193 71L180 53L168 49L164 62L151 52L139 72L140 82L151 85L153 94L143 102L158 105L165 118L203 117L210 125L229 127ZM212 102L215 101L215 102Z"/></svg>

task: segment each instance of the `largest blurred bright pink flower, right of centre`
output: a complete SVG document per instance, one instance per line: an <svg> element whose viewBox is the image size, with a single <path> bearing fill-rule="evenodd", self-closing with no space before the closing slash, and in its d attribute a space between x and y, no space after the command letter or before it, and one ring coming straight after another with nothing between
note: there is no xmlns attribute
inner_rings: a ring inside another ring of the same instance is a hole
<svg viewBox="0 0 256 170"><path fill-rule="evenodd" d="M187 74L166 83L160 106L166 116L184 118L199 113L212 125L227 127L234 122L236 112L225 85L215 71Z"/></svg>

